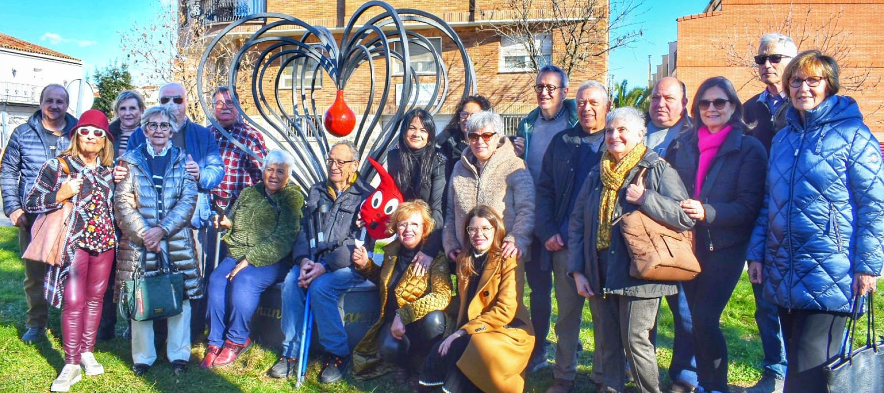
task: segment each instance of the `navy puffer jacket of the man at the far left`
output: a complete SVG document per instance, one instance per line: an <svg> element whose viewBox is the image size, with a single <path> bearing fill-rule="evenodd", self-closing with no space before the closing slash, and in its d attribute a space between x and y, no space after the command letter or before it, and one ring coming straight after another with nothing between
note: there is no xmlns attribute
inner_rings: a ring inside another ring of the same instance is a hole
<svg viewBox="0 0 884 393"><path fill-rule="evenodd" d="M71 140L67 135L77 125L77 119L65 113L65 131L55 146L50 146L43 132L42 112L39 110L27 119L27 123L15 127L9 137L0 164L0 189L3 190L3 210L8 217L23 209L27 193L34 187L40 168L50 158L67 150Z"/></svg>

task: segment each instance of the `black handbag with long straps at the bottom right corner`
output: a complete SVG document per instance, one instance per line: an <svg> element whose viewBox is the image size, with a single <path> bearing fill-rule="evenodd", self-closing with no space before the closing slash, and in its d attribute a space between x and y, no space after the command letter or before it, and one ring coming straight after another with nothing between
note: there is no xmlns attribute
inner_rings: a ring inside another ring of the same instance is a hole
<svg viewBox="0 0 884 393"><path fill-rule="evenodd" d="M842 353L823 369L826 387L829 392L873 393L884 387L884 339L875 332L875 307L873 292L868 297L868 329L865 331L866 344L853 350L857 334L857 319L862 315L863 299L855 297L853 315L848 321L849 334L844 337Z"/></svg>

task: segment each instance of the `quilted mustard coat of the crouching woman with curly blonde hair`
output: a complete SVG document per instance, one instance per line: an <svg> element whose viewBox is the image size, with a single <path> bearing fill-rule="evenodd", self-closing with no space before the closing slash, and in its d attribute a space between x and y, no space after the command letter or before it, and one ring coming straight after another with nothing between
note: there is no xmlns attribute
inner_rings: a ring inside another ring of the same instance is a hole
<svg viewBox="0 0 884 393"><path fill-rule="evenodd" d="M381 299L380 316L377 318L362 341L356 344L353 350L353 374L356 379L370 379L392 371L392 366L381 361L377 353L377 335L384 325L384 312L390 280L395 270L396 259L399 255L401 243L398 240L384 247L384 263L377 266L371 261L365 267L354 265L359 274L377 285L377 294ZM451 302L451 274L448 271L448 258L444 251L440 251L430 265L430 274L415 276L415 264L408 266L402 273L399 285L393 291L396 294L396 303L402 324L406 325L420 320L430 312L445 310Z"/></svg>

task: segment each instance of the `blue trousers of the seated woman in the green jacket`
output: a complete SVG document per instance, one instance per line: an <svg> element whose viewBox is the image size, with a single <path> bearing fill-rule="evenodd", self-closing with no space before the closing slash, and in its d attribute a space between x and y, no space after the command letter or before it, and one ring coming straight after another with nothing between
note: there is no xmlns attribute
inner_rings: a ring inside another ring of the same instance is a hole
<svg viewBox="0 0 884 393"><path fill-rule="evenodd" d="M237 264L234 258L225 258L209 278L207 309L209 312L209 344L218 348L225 339L244 344L248 339L248 321L252 320L264 289L281 281L288 272L282 262L271 266L247 266L232 280L227 274Z"/></svg>

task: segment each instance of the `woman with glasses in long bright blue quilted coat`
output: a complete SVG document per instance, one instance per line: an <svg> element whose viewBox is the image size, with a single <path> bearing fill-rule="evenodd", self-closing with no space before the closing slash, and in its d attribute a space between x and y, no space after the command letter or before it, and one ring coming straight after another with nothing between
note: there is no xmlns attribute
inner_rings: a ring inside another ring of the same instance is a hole
<svg viewBox="0 0 884 393"><path fill-rule="evenodd" d="M825 391L851 299L875 289L884 243L880 145L857 102L838 94L838 65L819 50L783 73L792 108L773 137L765 199L746 259L780 307L784 391Z"/></svg>

